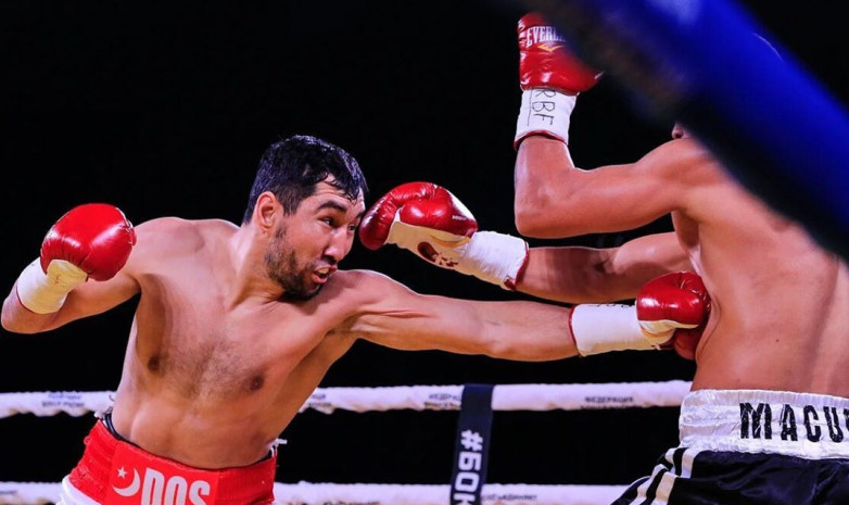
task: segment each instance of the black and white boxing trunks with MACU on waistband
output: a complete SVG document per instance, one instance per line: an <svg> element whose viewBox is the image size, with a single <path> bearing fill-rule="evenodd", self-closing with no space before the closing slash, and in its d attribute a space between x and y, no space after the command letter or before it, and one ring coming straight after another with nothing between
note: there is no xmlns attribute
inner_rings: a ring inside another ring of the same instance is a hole
<svg viewBox="0 0 849 505"><path fill-rule="evenodd" d="M614 505L849 503L849 400L760 390L687 394L681 445Z"/></svg>

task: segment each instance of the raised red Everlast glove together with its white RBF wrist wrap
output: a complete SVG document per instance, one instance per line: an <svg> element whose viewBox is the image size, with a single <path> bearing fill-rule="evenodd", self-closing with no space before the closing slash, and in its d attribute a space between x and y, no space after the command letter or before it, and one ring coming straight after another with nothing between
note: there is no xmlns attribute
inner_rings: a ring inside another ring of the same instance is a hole
<svg viewBox="0 0 849 505"><path fill-rule="evenodd" d="M519 86L522 103L514 148L531 135L569 143L575 96L592 88L600 73L569 53L557 29L540 14L519 20Z"/></svg>

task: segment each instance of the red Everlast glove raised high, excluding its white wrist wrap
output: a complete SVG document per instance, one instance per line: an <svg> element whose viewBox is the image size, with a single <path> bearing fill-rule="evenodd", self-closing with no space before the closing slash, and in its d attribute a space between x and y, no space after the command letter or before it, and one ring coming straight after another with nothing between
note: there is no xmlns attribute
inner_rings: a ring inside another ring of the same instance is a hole
<svg viewBox="0 0 849 505"><path fill-rule="evenodd" d="M566 48L562 37L540 14L519 20L519 86L578 94L592 88L600 73L582 63Z"/></svg>

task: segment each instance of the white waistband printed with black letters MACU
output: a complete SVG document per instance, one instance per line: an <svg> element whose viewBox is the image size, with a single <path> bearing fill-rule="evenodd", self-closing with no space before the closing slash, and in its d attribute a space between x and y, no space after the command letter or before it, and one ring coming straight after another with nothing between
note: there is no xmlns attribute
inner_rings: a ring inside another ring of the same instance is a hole
<svg viewBox="0 0 849 505"><path fill-rule="evenodd" d="M681 404L681 445L849 457L849 399L761 390L699 390Z"/></svg>

